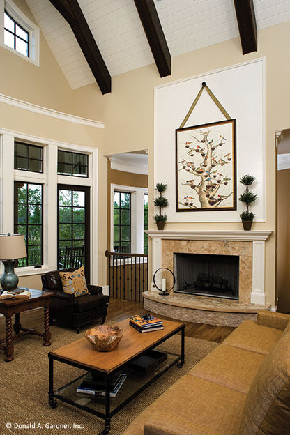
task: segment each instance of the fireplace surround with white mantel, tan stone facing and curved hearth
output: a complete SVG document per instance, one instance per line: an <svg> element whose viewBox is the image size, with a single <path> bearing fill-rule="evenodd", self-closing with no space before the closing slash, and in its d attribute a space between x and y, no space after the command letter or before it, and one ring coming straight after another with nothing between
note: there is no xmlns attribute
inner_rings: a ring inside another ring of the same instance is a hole
<svg viewBox="0 0 290 435"><path fill-rule="evenodd" d="M211 298L209 307L203 296L196 297L189 295L188 298L181 296L178 299L178 294L174 293L170 296L160 296L160 303L171 305L176 304L178 307L178 316L182 315L181 307L184 303L188 307L190 300L194 300L194 309L198 303L201 305L201 310L215 312L256 312L259 309L264 309L266 306L266 295L264 293L264 268L265 268L265 243L273 231L243 231L243 230L148 230L148 236L152 239L152 275L158 268L166 267L174 269L174 253L194 253L194 254L221 254L221 255L238 255L240 257L239 266L239 299L236 305L229 301L229 309L227 310L227 301L222 303L220 300ZM167 298L167 299L165 299ZM144 307L149 310L156 310L152 306L152 301L158 300L158 293L152 285L151 291L144 293ZM216 303L215 303L216 301ZM206 307L206 308L204 308ZM239 310L239 307L241 310ZM247 307L247 310L245 309ZM168 306L167 306L168 308ZM195 311L195 310L194 310ZM158 312L158 311L156 311ZM166 312L166 310L165 310ZM162 310L160 312L162 313ZM180 320L188 320L188 312L185 313L185 318ZM212 318L212 314L209 314ZM177 316L175 318L178 318ZM199 316L197 316L199 319ZM241 316L243 320L243 316ZM192 320L198 321L198 320ZM224 319L221 321L211 321L211 324L227 324ZM240 321L231 322L236 326Z"/></svg>

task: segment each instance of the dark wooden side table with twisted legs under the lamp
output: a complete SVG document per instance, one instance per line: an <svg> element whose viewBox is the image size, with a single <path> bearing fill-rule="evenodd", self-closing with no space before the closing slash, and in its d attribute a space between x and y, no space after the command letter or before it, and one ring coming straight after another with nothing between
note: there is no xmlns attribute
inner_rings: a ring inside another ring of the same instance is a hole
<svg viewBox="0 0 290 435"><path fill-rule="evenodd" d="M5 361L14 359L13 340L21 335L33 334L43 337L43 346L50 346L51 333L49 331L49 305L53 292L28 289L31 296L29 299L3 299L0 300L0 313L4 314L6 321L6 337L0 340L0 349L5 353ZM44 332L39 333L34 329L23 328L20 323L20 313L33 310L34 308L44 307ZM12 332L12 317L15 314L15 324Z"/></svg>

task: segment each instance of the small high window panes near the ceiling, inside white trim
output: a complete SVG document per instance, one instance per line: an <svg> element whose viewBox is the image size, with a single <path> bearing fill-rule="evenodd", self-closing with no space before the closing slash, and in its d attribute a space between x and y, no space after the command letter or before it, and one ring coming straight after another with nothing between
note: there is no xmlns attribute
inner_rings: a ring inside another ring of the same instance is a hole
<svg viewBox="0 0 290 435"><path fill-rule="evenodd" d="M29 32L4 11L4 44L29 57Z"/></svg>

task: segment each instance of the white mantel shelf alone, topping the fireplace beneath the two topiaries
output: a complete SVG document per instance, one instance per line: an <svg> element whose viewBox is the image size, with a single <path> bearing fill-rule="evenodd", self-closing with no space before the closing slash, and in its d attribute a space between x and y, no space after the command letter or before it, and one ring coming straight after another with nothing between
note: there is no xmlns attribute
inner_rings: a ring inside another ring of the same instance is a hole
<svg viewBox="0 0 290 435"><path fill-rule="evenodd" d="M266 241L273 231L243 229L217 229L217 230L183 230L183 229L148 229L145 231L151 238L170 240L211 240L211 241Z"/></svg>

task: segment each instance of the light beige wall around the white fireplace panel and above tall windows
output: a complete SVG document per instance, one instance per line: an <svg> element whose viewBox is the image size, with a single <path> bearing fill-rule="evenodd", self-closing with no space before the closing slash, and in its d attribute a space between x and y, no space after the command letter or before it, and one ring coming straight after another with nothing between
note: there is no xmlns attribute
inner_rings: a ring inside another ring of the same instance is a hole
<svg viewBox="0 0 290 435"><path fill-rule="evenodd" d="M22 2L20 2L22 3ZM100 173L98 222L98 252L100 257L107 245L107 162L103 155L148 149L149 151L149 194L154 196L153 180L153 136L154 136L154 86L184 79L218 68L261 57L266 58L266 222L254 224L254 229L275 229L275 130L289 128L290 100L289 70L287 56L290 39L290 22L259 31L258 52L243 56L238 38L224 43L199 49L172 60L172 75L158 75L155 65L146 66L112 79L112 93L102 96L96 84L71 91L66 79L52 56L49 47L41 37L40 68L14 56L0 48L0 93L20 98L51 109L79 116L105 121L105 132L92 128L76 127L73 124L64 128L62 121L43 118L38 123L38 115L20 114L18 109L2 107L0 126L20 129L56 140L84 143L100 150ZM286 54L286 55L285 55ZM227 86L225 83L224 86ZM194 98L194 96L192 96ZM174 110L174 107L172 107ZM37 121L36 121L37 118ZM149 199L153 216L152 201ZM153 219L149 226L154 227ZM216 224L167 224L167 228L190 229L236 229L240 222ZM99 264L102 274L103 263ZM275 235L266 242L266 293L267 303L275 305Z"/></svg>

